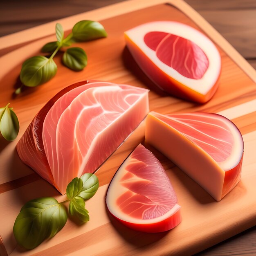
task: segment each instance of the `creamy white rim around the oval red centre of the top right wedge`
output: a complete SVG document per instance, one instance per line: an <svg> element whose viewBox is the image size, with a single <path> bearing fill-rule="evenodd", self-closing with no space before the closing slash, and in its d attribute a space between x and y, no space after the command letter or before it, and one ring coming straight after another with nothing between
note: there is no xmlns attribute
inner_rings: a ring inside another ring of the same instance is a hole
<svg viewBox="0 0 256 256"><path fill-rule="evenodd" d="M144 42L144 36L148 32L152 31L166 32L181 36L198 45L203 50L209 61L209 67L202 78L190 79L182 76L175 69L160 61L156 52L150 49ZM157 21L139 25L138 27L126 31L125 34L141 49L142 52L144 52L146 56L148 56L148 58L155 63L155 65L157 65L157 67L159 67L160 70L200 94L207 94L219 77L221 68L220 53L213 42L197 29L184 25L180 22Z"/></svg>

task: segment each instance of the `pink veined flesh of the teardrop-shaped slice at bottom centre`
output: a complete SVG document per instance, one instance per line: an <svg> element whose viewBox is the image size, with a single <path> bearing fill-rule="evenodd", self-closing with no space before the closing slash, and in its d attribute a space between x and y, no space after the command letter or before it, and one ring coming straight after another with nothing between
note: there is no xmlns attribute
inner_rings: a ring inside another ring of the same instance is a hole
<svg viewBox="0 0 256 256"><path fill-rule="evenodd" d="M177 204L163 166L144 146L132 152L125 170L120 182L128 191L117 198L117 205L126 215L144 220L157 218Z"/></svg>

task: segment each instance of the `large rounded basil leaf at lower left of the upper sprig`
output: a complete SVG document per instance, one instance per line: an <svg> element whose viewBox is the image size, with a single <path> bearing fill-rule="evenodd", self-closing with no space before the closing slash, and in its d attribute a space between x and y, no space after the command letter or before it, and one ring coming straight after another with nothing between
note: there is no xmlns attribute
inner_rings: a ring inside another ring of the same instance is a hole
<svg viewBox="0 0 256 256"><path fill-rule="evenodd" d="M52 58L34 56L27 59L21 67L20 80L26 86L36 86L52 79L57 72L57 65Z"/></svg>

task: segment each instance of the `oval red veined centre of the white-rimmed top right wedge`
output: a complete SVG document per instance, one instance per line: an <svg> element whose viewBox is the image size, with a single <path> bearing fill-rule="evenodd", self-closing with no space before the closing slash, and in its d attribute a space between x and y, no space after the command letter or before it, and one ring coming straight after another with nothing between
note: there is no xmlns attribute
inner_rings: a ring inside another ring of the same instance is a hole
<svg viewBox="0 0 256 256"><path fill-rule="evenodd" d="M144 36L144 42L156 51L160 61L187 78L201 79L209 67L207 56L191 40L153 31Z"/></svg>

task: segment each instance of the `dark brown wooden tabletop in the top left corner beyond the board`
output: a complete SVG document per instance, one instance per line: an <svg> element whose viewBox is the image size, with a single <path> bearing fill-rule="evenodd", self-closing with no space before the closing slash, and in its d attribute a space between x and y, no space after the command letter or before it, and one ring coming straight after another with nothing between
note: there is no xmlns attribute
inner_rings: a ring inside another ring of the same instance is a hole
<svg viewBox="0 0 256 256"><path fill-rule="evenodd" d="M0 36L35 27L77 13L115 4L121 0L10 0L0 2Z"/></svg>

